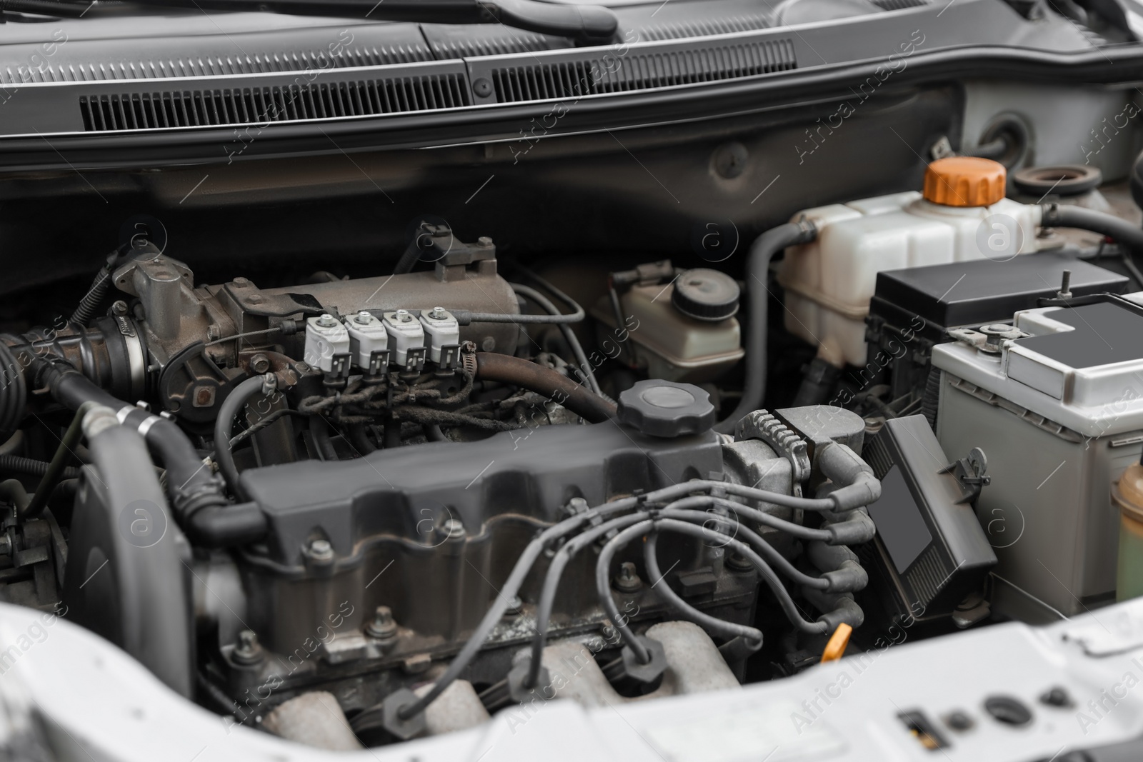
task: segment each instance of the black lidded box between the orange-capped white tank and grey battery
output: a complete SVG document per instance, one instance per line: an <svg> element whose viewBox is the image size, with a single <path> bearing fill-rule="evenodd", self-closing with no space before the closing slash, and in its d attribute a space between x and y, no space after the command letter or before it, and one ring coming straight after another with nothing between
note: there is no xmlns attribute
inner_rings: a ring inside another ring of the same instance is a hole
<svg viewBox="0 0 1143 762"><path fill-rule="evenodd" d="M1129 284L1124 275L1063 252L878 273L865 319L869 362L855 371L857 387L887 383L890 399L921 399L933 345L949 340L949 329L1006 321L1034 307L1056 295L1065 270L1076 297L1122 294Z"/></svg>

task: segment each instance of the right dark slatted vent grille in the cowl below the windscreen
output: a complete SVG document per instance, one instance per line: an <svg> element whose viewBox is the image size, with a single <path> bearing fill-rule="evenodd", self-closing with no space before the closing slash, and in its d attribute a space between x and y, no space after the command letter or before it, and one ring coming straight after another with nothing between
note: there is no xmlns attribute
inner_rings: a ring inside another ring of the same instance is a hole
<svg viewBox="0 0 1143 762"><path fill-rule="evenodd" d="M711 82L798 66L789 39L629 53L617 61L610 62L612 71L598 59L494 69L493 86L497 101L514 103Z"/></svg>

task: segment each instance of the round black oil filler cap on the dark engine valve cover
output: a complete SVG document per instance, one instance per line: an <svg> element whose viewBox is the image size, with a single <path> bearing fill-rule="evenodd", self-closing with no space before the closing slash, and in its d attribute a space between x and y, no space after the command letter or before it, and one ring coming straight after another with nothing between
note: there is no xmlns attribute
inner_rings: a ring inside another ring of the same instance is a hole
<svg viewBox="0 0 1143 762"><path fill-rule="evenodd" d="M620 394L620 423L650 436L700 434L714 425L710 394L694 384L648 379Z"/></svg>

